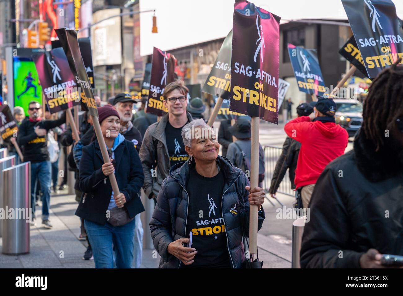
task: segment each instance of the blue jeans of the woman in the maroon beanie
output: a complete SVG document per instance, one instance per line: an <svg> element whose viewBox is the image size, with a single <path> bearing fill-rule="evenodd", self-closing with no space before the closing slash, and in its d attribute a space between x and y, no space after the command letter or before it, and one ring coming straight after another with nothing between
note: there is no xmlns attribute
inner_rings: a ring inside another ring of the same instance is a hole
<svg viewBox="0 0 403 296"><path fill-rule="evenodd" d="M117 268L131 268L133 261L133 236L136 219L123 226L105 225L84 220L94 256L95 268L113 268L113 252Z"/></svg>

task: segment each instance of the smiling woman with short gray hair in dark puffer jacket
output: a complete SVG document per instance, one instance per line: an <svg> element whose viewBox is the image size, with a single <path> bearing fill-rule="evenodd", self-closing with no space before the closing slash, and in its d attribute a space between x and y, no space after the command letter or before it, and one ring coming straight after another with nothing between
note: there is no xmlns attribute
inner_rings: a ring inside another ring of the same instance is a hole
<svg viewBox="0 0 403 296"><path fill-rule="evenodd" d="M242 170L218 155L220 145L204 120L186 124L182 138L189 159L170 169L150 221L160 268L242 268L249 204L259 206L260 229L264 190L251 189Z"/></svg>

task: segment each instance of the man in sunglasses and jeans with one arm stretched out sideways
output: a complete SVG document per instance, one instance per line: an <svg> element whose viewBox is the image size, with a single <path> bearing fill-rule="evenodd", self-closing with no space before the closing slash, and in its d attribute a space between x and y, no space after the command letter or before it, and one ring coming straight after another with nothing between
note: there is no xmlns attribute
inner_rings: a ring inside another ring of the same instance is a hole
<svg viewBox="0 0 403 296"><path fill-rule="evenodd" d="M18 129L17 142L22 146L24 161L31 161L31 225L35 226L35 192L36 180L42 191L42 224L51 229L49 221L50 208L50 174L51 166L48 152L48 130L66 122L66 113L57 120L41 118L42 109L37 101L28 104L29 118L21 123Z"/></svg>

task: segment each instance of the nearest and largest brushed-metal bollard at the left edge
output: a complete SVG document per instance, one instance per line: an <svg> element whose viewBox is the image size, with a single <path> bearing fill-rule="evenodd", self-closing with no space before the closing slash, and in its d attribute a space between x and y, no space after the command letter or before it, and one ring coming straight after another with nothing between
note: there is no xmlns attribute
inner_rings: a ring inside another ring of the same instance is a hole
<svg viewBox="0 0 403 296"><path fill-rule="evenodd" d="M2 253L18 255L29 253L29 222L31 216L31 162L24 162L2 171L4 219ZM10 212L14 217L10 217Z"/></svg>

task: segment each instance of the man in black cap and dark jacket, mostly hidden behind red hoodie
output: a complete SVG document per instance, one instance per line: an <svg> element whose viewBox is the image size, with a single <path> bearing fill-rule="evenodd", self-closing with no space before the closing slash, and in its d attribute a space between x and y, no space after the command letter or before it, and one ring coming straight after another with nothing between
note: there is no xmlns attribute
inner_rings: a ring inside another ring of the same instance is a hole
<svg viewBox="0 0 403 296"><path fill-rule="evenodd" d="M310 116L310 114L314 112L315 103L316 102L300 104L297 107L298 116ZM276 167L274 168L272 182L269 188L269 194L271 197L276 198L277 189L280 186L280 183L288 169L291 181L291 189L295 189L295 169L297 168L298 153L300 148L301 143L287 136L283 144L283 151L281 151L281 155L278 157Z"/></svg>

